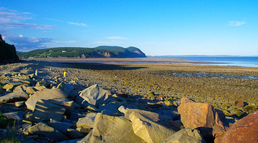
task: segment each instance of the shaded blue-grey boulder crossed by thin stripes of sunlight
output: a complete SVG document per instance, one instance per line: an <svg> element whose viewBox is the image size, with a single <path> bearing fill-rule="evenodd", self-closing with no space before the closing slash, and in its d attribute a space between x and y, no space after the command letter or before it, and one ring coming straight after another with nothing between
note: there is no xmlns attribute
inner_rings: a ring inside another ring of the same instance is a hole
<svg viewBox="0 0 258 143"><path fill-rule="evenodd" d="M63 119L63 114L66 109L51 103L49 100L39 99L36 102L35 109L33 111L33 116L40 119L56 119L61 121Z"/></svg>

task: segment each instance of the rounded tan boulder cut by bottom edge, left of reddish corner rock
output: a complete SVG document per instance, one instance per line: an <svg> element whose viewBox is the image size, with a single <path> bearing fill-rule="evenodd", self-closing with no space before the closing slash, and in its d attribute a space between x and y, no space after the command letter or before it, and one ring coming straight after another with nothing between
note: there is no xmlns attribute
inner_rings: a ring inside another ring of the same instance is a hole
<svg viewBox="0 0 258 143"><path fill-rule="evenodd" d="M185 143L185 142L206 143L202 134L200 134L198 130L196 129L192 130L191 128L185 128L170 135L162 143Z"/></svg>

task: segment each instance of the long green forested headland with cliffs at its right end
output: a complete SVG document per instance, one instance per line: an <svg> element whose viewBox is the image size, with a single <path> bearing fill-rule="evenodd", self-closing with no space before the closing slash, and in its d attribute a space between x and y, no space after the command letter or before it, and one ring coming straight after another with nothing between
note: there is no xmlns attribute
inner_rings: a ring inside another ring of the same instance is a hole
<svg viewBox="0 0 258 143"><path fill-rule="evenodd" d="M25 53L18 53L20 58L44 58L44 57L118 57L133 58L146 57L140 49L136 47L118 47L118 46L98 46L95 48L82 47L57 47L47 49L37 49Z"/></svg>

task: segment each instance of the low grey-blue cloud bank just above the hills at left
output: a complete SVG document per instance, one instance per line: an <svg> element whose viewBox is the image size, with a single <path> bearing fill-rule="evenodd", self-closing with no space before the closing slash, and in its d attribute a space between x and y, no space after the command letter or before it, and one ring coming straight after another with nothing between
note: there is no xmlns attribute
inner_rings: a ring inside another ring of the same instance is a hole
<svg viewBox="0 0 258 143"><path fill-rule="evenodd" d="M19 37L8 37L9 41L13 42L16 49L27 49L27 50L34 50L34 49L44 49L48 48L42 43L52 42L52 38L37 38L37 37L25 37L22 34Z"/></svg>

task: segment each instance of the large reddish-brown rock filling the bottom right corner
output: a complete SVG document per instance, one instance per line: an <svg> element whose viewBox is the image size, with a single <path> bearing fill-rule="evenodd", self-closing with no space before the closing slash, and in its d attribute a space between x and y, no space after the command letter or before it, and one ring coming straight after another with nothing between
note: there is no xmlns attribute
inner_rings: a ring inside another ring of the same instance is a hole
<svg viewBox="0 0 258 143"><path fill-rule="evenodd" d="M217 137L215 143L256 142L258 143L258 111L236 121L224 136Z"/></svg>

